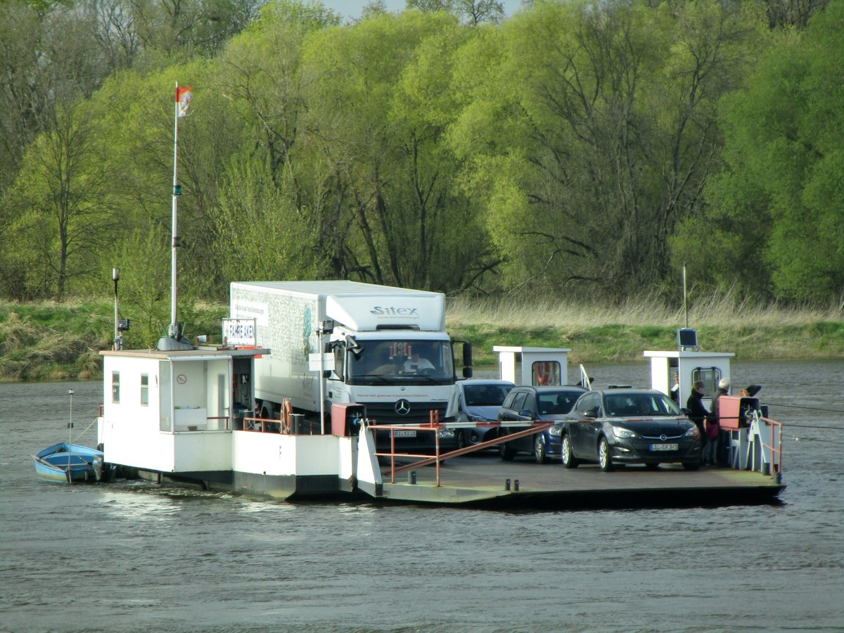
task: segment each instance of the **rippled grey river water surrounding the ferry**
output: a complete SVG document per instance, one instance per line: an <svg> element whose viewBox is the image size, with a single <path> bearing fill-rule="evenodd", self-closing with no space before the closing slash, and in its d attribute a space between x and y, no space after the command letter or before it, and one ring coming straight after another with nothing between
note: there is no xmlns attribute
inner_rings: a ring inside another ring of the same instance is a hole
<svg viewBox="0 0 844 633"><path fill-rule="evenodd" d="M589 369L595 387L648 383L645 362ZM101 383L0 385L0 630L844 630L844 361L732 373L786 425L781 504L495 512L46 484L30 455L71 417L95 445Z"/></svg>

